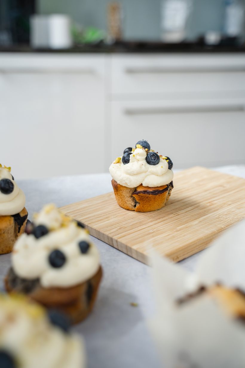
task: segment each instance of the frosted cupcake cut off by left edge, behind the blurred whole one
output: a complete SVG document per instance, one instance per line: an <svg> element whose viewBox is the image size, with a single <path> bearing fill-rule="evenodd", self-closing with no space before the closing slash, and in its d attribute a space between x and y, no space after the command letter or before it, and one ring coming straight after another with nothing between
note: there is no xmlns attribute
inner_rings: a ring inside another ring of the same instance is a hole
<svg viewBox="0 0 245 368"><path fill-rule="evenodd" d="M25 231L28 216L25 194L10 171L11 167L0 164L0 254L12 251L15 241Z"/></svg>

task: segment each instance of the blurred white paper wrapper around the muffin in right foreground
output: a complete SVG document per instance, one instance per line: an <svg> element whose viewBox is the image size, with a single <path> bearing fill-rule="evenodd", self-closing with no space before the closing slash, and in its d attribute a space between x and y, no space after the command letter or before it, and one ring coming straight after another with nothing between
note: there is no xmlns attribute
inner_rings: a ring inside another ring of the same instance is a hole
<svg viewBox="0 0 245 368"><path fill-rule="evenodd" d="M196 272L152 257L156 316L149 322L165 367L242 368L245 326L224 312L208 293L183 305L177 298L192 286L245 290L245 220L224 232L200 256ZM196 289L197 290L197 289ZM193 291L193 290L192 290Z"/></svg>

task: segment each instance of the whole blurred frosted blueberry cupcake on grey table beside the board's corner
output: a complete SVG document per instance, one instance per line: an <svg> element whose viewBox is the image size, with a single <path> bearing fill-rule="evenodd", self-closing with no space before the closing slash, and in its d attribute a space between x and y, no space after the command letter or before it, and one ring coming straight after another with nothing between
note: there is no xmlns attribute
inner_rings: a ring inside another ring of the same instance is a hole
<svg viewBox="0 0 245 368"><path fill-rule="evenodd" d="M83 224L46 205L14 245L5 278L8 292L28 295L47 308L82 321L93 308L102 269Z"/></svg>

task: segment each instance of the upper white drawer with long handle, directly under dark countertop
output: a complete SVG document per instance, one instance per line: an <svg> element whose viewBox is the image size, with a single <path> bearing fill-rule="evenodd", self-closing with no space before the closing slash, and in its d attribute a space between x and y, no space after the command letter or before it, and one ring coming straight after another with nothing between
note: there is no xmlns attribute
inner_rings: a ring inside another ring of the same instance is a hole
<svg viewBox="0 0 245 368"><path fill-rule="evenodd" d="M244 91L243 54L113 55L111 92L116 95ZM172 97L170 97L172 98Z"/></svg>

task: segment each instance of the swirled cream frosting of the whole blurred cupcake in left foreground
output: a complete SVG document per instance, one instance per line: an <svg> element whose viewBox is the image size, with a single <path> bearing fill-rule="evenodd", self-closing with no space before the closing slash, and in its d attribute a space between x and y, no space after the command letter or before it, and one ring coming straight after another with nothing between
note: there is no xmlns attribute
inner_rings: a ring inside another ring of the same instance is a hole
<svg viewBox="0 0 245 368"><path fill-rule="evenodd" d="M14 245L12 267L19 277L36 279L43 287L69 287L94 276L100 266L96 246L91 243L87 230L75 220L63 215L55 205L46 205L36 215L34 226L45 226L48 233L36 238L33 233L22 234ZM79 243L89 244L82 253ZM52 251L59 250L65 263L55 268L49 262Z"/></svg>

